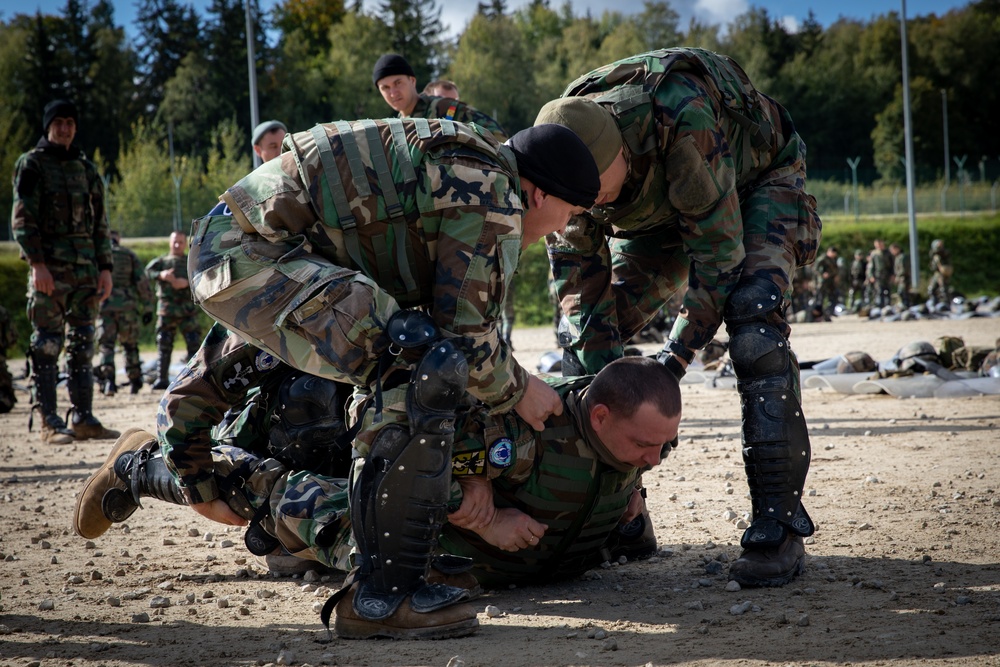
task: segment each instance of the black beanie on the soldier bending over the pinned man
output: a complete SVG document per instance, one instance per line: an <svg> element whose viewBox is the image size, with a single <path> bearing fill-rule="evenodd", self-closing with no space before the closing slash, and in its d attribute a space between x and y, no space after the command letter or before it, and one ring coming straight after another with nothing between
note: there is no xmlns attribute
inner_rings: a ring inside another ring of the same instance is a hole
<svg viewBox="0 0 1000 667"><path fill-rule="evenodd" d="M535 125L507 140L517 158L518 174L542 192L574 206L590 208L601 189L597 163L587 144L555 123Z"/></svg>

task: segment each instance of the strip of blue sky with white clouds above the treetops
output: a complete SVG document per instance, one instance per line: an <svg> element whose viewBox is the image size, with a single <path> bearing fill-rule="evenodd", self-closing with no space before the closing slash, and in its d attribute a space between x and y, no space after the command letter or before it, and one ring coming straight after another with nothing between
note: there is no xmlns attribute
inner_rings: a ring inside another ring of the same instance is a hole
<svg viewBox="0 0 1000 667"><path fill-rule="evenodd" d="M820 25L827 27L840 18L870 21L876 16L890 12L899 12L904 0L670 0L670 5L680 15L680 26L684 29L691 18L703 23L725 25L733 17L743 14L751 6L762 7L772 17L779 19L786 29L794 32L798 25L812 10ZM209 4L208 0L182 0L184 4L194 4L199 13ZM260 0L261 9L269 10L278 4L279 0ZM376 6L378 0L365 0L365 7ZM514 10L527 4L528 0L507 0L508 10ZM0 0L0 19L9 19L15 13L59 13L65 6L65 0ZM115 20L124 25L127 32L132 31L130 25L135 18L135 0L113 0ZM909 0L906 2L906 15L909 18L926 16L928 14L942 15L950 9L963 7L968 0ZM550 0L553 9L559 9L563 0ZM438 0L442 8L441 22L450 34L462 32L466 23L475 13L475 0ZM642 11L642 0L572 0L574 14L582 15L589 11L592 16L599 17L606 10L615 10L623 14L634 14Z"/></svg>

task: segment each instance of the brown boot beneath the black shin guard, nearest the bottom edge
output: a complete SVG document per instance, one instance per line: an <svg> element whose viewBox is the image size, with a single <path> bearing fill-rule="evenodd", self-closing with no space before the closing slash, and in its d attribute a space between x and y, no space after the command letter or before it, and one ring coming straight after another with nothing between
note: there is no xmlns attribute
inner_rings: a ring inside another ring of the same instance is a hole
<svg viewBox="0 0 1000 667"><path fill-rule="evenodd" d="M354 595L358 585L337 603L334 630L342 639L450 639L465 637L479 629L479 619L472 605L453 604L437 611L419 614L410 607L407 596L399 608L388 618L372 621L354 611Z"/></svg>

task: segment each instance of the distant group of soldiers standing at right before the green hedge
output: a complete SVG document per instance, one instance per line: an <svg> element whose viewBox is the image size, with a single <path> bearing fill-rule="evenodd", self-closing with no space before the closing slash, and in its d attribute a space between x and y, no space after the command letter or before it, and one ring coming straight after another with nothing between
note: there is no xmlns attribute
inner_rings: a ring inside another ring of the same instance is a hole
<svg viewBox="0 0 1000 667"><path fill-rule="evenodd" d="M831 245L814 266L799 267L788 317L797 322L828 322L841 313L869 314L916 305L919 296L910 289L910 262L903 248L898 243L886 247L882 239L875 239L872 246L867 255L855 249L848 263L839 248ZM927 307L939 310L953 296L951 258L941 239L931 243L930 271Z"/></svg>

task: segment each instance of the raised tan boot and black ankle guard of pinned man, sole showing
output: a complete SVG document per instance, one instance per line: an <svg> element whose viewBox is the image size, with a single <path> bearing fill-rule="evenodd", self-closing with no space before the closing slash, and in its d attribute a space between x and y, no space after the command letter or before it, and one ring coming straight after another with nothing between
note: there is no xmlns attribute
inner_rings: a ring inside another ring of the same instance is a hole
<svg viewBox="0 0 1000 667"><path fill-rule="evenodd" d="M83 485L73 510L73 530L80 537L96 539L112 523L120 523L141 507L139 499L152 497L186 505L180 488L167 470L156 438L132 428L121 435L111 453Z"/></svg>

